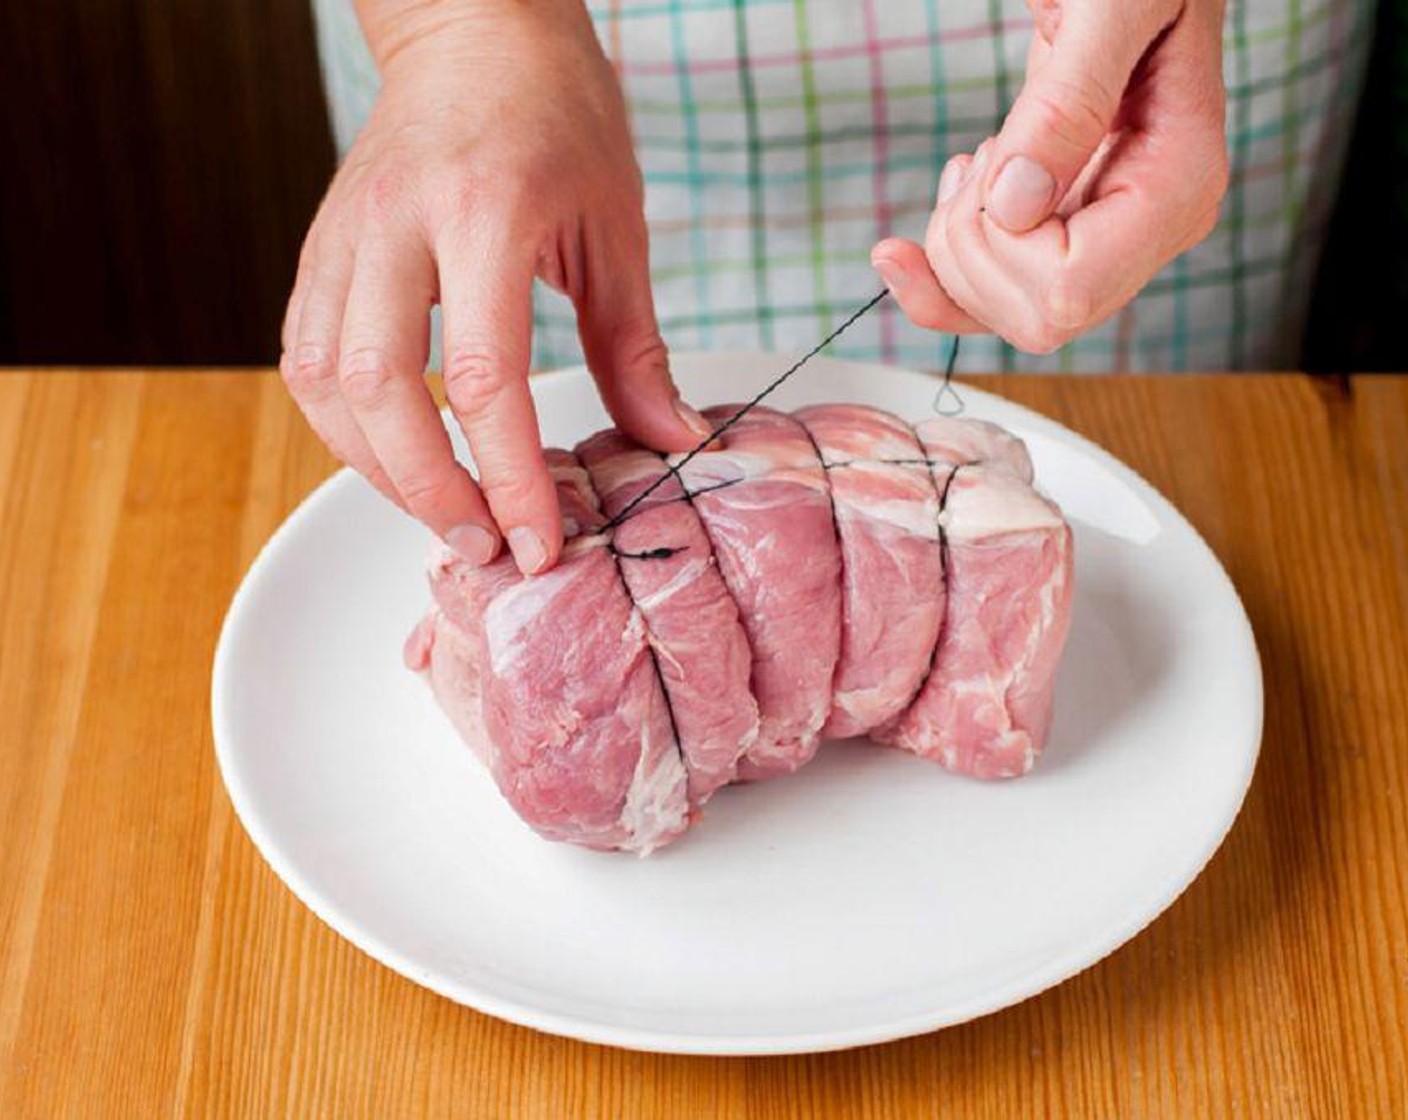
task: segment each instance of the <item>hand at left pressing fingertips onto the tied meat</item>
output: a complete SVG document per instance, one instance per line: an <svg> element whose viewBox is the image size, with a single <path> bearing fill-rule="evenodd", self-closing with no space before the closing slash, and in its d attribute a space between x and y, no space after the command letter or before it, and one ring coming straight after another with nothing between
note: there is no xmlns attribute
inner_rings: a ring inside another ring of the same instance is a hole
<svg viewBox="0 0 1408 1120"><path fill-rule="evenodd" d="M621 92L580 0L362 8L382 93L304 242L280 371L332 452L451 548L486 564L507 540L539 572L562 525L527 383L535 278L572 297L622 430L659 451L708 433L656 327ZM422 378L436 301L477 485Z"/></svg>

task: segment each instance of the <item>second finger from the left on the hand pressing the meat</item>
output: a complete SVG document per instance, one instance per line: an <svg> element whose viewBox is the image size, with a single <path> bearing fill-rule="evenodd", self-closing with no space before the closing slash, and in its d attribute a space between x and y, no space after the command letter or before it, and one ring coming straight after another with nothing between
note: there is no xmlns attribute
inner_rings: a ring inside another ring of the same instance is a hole
<svg viewBox="0 0 1408 1120"><path fill-rule="evenodd" d="M429 351L434 266L418 239L370 235L358 249L338 380L367 444L413 517L472 564L498 535L479 487L455 461L421 376Z"/></svg>

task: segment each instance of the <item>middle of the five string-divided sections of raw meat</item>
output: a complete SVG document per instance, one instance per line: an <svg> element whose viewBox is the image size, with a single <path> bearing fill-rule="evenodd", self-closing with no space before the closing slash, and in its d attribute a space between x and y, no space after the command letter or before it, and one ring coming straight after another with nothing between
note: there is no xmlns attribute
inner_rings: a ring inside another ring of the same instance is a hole
<svg viewBox="0 0 1408 1120"><path fill-rule="evenodd" d="M710 409L721 424L739 406ZM755 409L722 449L681 468L753 652L758 740L748 779L791 773L815 752L841 654L841 552L826 472L805 430Z"/></svg>

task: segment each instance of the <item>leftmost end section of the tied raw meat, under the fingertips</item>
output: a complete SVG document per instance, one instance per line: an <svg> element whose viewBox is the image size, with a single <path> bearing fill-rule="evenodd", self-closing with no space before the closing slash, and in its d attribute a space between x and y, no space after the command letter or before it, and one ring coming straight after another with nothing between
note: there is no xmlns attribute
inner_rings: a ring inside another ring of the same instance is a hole
<svg viewBox="0 0 1408 1120"><path fill-rule="evenodd" d="M586 472L549 452L565 525L600 523ZM524 578L438 548L438 610L408 642L451 721L542 835L649 852L689 826L686 772L641 613L601 535Z"/></svg>

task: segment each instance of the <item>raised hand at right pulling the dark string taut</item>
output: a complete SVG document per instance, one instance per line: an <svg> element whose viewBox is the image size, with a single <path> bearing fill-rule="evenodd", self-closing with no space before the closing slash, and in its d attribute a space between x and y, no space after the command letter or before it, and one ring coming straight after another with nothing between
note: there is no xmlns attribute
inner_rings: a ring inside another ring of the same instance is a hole
<svg viewBox="0 0 1408 1120"><path fill-rule="evenodd" d="M872 252L918 325L1048 354L1205 238L1226 192L1222 0L1028 0L1001 132L956 155L921 248Z"/></svg>

